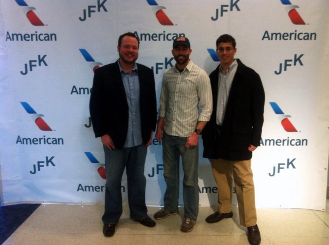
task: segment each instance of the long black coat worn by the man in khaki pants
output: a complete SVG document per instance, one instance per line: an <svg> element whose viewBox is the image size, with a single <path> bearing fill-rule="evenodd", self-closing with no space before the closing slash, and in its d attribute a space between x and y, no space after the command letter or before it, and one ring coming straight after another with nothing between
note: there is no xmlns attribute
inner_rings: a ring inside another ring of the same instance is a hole
<svg viewBox="0 0 329 245"><path fill-rule="evenodd" d="M248 160L248 146L259 146L264 122L265 93L260 76L237 59L221 136L216 135L218 66L210 75L213 112L203 130L203 156L211 159Z"/></svg>

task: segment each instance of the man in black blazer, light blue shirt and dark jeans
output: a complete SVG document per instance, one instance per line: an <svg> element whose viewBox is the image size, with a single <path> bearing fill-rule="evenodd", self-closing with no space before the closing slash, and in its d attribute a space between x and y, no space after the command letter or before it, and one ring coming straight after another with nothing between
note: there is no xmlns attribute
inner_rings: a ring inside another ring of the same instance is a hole
<svg viewBox="0 0 329 245"><path fill-rule="evenodd" d="M119 59L95 70L90 117L105 153L106 189L103 234L113 236L122 214L121 179L127 174L130 217L147 227L155 222L145 205L147 147L156 127L153 71L137 64L139 40L132 32L118 40Z"/></svg>

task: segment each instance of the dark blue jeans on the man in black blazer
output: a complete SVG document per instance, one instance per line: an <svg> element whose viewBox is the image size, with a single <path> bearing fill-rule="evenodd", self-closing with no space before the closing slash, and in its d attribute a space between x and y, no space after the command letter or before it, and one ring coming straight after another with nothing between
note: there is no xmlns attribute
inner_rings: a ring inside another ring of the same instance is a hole
<svg viewBox="0 0 329 245"><path fill-rule="evenodd" d="M103 148L106 169L103 223L116 224L122 215L121 179L124 168L126 168L127 174L130 217L133 220L147 217L148 210L145 205L146 178L144 176L147 147L140 145L112 151L106 147Z"/></svg>

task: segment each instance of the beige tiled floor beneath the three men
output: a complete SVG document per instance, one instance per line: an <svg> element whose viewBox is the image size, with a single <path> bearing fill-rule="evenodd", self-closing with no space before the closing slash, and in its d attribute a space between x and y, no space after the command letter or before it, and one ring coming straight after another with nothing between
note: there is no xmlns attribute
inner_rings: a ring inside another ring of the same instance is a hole
<svg viewBox="0 0 329 245"><path fill-rule="evenodd" d="M248 244L246 229L239 225L237 211L232 219L208 224L212 208L201 207L190 233L179 231L180 215L156 220L147 228L129 218L128 209L113 237L102 233L102 205L41 205L3 244ZM258 209L261 244L329 244L329 201L327 211L302 209ZM149 215L158 210L149 207Z"/></svg>

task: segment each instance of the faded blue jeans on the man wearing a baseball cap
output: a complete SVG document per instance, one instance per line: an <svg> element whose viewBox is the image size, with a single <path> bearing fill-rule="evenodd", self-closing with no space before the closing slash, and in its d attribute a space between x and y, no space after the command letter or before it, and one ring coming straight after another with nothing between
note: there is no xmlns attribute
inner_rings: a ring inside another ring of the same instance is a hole
<svg viewBox="0 0 329 245"><path fill-rule="evenodd" d="M196 219L199 211L198 187L198 146L186 148L187 137L178 137L163 133L163 176L167 189L163 201L165 209L178 210L179 198L179 156L181 156L183 179L184 217Z"/></svg>

